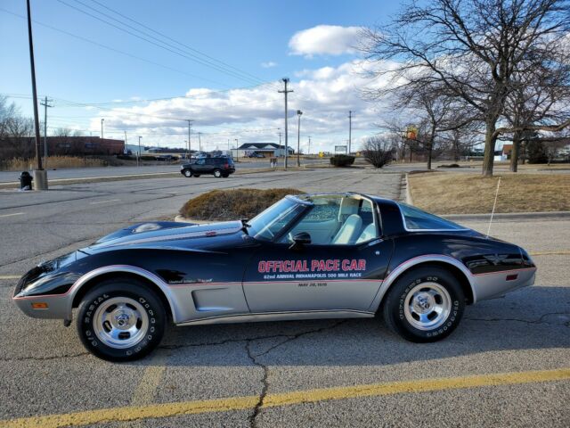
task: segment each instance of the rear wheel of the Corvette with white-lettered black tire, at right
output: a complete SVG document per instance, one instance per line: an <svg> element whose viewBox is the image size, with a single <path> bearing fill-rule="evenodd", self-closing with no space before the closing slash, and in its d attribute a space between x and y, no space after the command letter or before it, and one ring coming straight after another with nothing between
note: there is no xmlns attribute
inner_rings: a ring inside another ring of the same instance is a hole
<svg viewBox="0 0 570 428"><path fill-rule="evenodd" d="M436 308L448 311L440 316ZM464 309L465 295L455 276L444 268L428 266L398 278L384 297L382 312L388 328L404 339L436 342L455 330Z"/></svg>

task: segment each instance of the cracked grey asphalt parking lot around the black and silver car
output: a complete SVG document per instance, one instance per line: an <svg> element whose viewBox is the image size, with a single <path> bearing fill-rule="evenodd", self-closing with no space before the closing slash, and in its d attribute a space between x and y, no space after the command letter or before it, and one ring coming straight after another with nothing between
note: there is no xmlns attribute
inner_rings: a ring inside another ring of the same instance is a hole
<svg viewBox="0 0 570 428"><path fill-rule="evenodd" d="M493 222L491 235L533 253L536 285L469 307L432 344L375 319L172 327L151 358L118 365L87 354L74 326L25 317L11 301L15 278L40 259L172 218L220 186L397 199L401 185L397 173L314 169L0 192L0 427L568 426L568 218Z"/></svg>

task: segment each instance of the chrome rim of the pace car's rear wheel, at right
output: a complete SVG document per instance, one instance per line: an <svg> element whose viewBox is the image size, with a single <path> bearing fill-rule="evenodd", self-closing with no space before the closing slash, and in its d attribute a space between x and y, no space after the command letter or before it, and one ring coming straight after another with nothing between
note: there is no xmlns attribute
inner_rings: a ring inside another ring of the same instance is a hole
<svg viewBox="0 0 570 428"><path fill-rule="evenodd" d="M452 298L436 283L421 283L411 289L404 301L406 320L419 330L434 330L449 317Z"/></svg>

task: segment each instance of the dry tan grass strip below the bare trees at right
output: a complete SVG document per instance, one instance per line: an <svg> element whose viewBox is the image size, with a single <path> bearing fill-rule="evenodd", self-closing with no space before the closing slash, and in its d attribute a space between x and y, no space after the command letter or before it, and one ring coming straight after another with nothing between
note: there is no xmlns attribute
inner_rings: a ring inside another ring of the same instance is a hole
<svg viewBox="0 0 570 428"><path fill-rule="evenodd" d="M408 177L413 204L436 214L488 213L500 176L432 173ZM570 175L501 176L495 212L570 210Z"/></svg>

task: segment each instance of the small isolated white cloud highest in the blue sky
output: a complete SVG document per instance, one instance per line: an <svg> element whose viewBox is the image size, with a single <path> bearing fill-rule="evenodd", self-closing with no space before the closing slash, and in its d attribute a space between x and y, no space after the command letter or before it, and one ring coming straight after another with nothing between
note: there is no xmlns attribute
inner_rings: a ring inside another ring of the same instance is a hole
<svg viewBox="0 0 570 428"><path fill-rule="evenodd" d="M297 31L289 40L290 53L309 58L313 55L354 53L360 30L360 27L317 25Z"/></svg>

